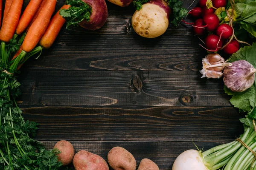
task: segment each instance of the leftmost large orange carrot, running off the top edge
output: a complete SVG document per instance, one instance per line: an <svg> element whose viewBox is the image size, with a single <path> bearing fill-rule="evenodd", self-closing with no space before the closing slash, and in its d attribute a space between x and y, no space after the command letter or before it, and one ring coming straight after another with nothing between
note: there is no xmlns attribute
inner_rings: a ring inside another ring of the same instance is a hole
<svg viewBox="0 0 256 170"><path fill-rule="evenodd" d="M0 31L0 40L3 42L9 42L17 28L20 19L20 13L23 0L14 0L10 7L6 18L3 20L3 25Z"/></svg>

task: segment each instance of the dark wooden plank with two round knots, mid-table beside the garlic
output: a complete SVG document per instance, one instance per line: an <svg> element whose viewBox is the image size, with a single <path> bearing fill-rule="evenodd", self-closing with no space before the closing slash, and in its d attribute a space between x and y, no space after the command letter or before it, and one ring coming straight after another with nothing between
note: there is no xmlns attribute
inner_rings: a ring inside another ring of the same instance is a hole
<svg viewBox="0 0 256 170"><path fill-rule="evenodd" d="M222 80L187 71L23 71L22 105L231 106Z"/></svg>

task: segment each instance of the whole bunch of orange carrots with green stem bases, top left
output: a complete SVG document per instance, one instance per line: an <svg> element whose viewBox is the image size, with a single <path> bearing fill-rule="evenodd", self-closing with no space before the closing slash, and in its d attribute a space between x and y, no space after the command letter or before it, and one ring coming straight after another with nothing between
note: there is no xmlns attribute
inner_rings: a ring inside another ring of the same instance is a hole
<svg viewBox="0 0 256 170"><path fill-rule="evenodd" d="M9 72L15 72L29 57L53 44L65 23L59 11L52 17L56 2L57 0L30 0L21 15L23 0L6 0L1 22L0 0L0 51L2 63L9 65ZM61 9L69 7L64 5ZM14 45L15 50L11 50L9 46Z"/></svg>

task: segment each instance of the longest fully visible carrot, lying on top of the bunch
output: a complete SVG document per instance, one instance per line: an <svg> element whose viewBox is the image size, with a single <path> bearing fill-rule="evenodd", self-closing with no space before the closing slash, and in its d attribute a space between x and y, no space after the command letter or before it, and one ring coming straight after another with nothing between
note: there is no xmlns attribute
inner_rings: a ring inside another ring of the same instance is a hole
<svg viewBox="0 0 256 170"><path fill-rule="evenodd" d="M38 44L39 40L43 36L51 16L54 12L56 0L47 0L38 17L35 19L29 28L28 33L23 41L22 48L25 52L30 52Z"/></svg>

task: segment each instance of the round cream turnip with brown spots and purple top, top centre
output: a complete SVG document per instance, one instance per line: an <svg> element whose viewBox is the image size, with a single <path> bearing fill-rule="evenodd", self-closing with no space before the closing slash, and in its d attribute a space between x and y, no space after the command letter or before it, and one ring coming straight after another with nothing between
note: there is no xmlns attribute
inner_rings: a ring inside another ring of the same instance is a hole
<svg viewBox="0 0 256 170"><path fill-rule="evenodd" d="M170 14L171 8L164 0L151 0L135 11L131 23L140 36L155 38L167 30Z"/></svg>

